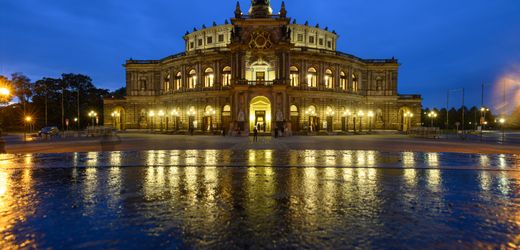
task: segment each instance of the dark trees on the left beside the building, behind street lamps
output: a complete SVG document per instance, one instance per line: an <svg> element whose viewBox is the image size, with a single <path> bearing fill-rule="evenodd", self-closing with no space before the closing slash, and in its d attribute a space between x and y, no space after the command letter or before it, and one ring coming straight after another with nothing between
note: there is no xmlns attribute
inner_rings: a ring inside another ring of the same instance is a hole
<svg viewBox="0 0 520 250"><path fill-rule="evenodd" d="M21 73L14 73L11 78L0 76L3 85L12 91L11 98L16 97L19 103L2 108L1 128L4 130L21 130L26 124L25 117L32 117L35 129L44 126L76 129L91 125L88 112L94 110L103 122L103 98L124 94L124 90L110 93L107 89L96 88L89 76L81 74L62 74L60 78L44 77L31 81ZM2 100L4 103L10 100Z"/></svg>

